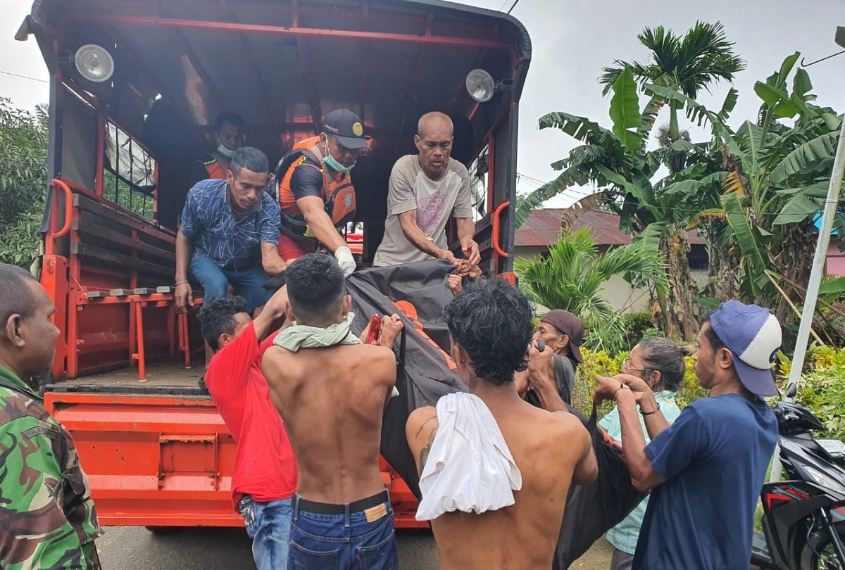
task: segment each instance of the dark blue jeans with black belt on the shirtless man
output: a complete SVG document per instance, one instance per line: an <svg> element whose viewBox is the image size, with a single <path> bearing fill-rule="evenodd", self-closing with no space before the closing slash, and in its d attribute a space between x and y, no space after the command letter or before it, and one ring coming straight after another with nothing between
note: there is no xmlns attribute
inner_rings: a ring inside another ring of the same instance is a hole
<svg viewBox="0 0 845 570"><path fill-rule="evenodd" d="M288 570L395 570L399 567L393 508L323 514L299 510L293 497ZM368 521L369 518L369 521Z"/></svg>

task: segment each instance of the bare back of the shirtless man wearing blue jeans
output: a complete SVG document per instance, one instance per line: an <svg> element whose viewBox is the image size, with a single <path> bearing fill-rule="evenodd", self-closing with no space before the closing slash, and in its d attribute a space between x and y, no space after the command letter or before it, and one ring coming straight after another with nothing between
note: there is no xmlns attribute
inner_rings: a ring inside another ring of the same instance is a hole
<svg viewBox="0 0 845 570"><path fill-rule="evenodd" d="M396 380L393 351L377 345L298 352L274 346L263 366L297 457L297 494L342 504L383 491L379 442L384 403Z"/></svg>

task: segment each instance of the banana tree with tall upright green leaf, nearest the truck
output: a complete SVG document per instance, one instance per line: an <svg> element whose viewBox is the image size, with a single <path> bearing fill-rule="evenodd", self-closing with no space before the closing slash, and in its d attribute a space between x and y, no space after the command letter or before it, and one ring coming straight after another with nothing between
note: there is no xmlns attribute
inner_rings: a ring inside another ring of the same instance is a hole
<svg viewBox="0 0 845 570"><path fill-rule="evenodd" d="M584 144L573 149L566 159L553 164L562 173L526 198L521 204L523 211L517 210L517 221L519 223L532 208L573 184L593 182L602 187L602 197L613 200L621 209L622 229L640 236L638 239L662 252L668 260L671 268L668 289L656 291L655 312L662 328L674 338L693 339L698 330L697 287L690 271L690 244L685 228L692 214L705 205L712 205L701 197L717 196L715 189L723 176L717 173L717 165L705 160L710 151L707 144L679 140L668 148L646 150L657 111L667 102L666 97L652 95L640 111L637 84L630 70L619 74L612 90L609 115L613 129L568 113L550 113L542 117L542 128L560 128ZM735 103L736 94L732 90L721 111L700 107L693 119L697 120L699 116L727 118ZM683 155L684 163L690 166L652 182L670 153L676 157ZM699 164L701 162L705 164ZM597 201L595 197L587 199ZM572 210L564 214L564 231L575 217Z"/></svg>

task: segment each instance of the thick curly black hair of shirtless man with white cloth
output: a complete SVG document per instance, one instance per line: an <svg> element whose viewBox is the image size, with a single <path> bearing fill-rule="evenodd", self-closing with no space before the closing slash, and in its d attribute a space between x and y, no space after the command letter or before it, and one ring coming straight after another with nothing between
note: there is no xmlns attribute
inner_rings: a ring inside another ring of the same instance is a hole
<svg viewBox="0 0 845 570"><path fill-rule="evenodd" d="M479 279L444 307L452 339L472 361L476 376L500 386L527 366L532 306L505 280Z"/></svg>

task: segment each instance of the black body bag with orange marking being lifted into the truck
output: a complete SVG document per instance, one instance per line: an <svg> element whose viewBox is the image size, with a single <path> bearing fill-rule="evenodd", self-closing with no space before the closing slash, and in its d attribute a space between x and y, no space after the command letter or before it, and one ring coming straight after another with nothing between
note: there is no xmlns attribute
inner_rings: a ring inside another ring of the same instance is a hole
<svg viewBox="0 0 845 570"><path fill-rule="evenodd" d="M419 407L437 404L444 394L466 391L449 356L449 330L443 318L443 307L452 299L447 277L454 271L450 263L432 260L363 269L346 280L355 312L354 333L363 331L373 313L397 313L405 323L404 350L400 349L400 371L396 377L400 395L390 401L384 415L381 454L417 498L419 477L405 437L408 415ZM572 411L590 432L599 475L591 486L570 489L554 557L555 569L569 567L643 497L630 485L630 474L619 448L602 439L594 418L588 421Z"/></svg>

